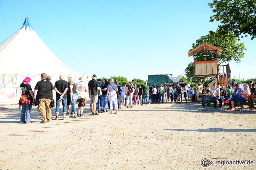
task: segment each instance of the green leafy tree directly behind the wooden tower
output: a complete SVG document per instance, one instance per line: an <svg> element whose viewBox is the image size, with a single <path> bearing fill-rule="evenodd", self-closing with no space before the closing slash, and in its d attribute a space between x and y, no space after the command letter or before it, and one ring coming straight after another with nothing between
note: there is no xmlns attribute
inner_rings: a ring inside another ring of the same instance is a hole
<svg viewBox="0 0 256 170"><path fill-rule="evenodd" d="M201 45L202 43L208 43L223 49L220 55L218 56L219 65L223 62L229 62L231 60L240 61L240 58L244 57L244 50L246 50L244 43L237 43L236 37L233 34L226 34L225 36L221 35L219 31L209 31L208 35L203 35L201 38L197 39L195 43L192 44L192 49ZM190 49L189 51L191 51ZM205 52L205 54L212 52ZM198 52L197 54L200 54ZM195 61L212 61L214 60L213 55L199 55L195 57ZM192 63L188 64L186 68L186 77L194 78L193 73L194 67Z"/></svg>

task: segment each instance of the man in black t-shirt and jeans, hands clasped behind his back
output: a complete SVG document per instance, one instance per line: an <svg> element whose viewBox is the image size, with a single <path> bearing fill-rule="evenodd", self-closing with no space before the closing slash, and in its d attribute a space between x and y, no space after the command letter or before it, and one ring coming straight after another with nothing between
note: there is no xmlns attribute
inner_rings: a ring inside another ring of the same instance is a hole
<svg viewBox="0 0 256 170"><path fill-rule="evenodd" d="M66 113L67 113L67 89L68 83L64 80L64 75L60 75L60 80L55 82L54 90L56 91L56 118L55 120L59 120L59 110L60 104L62 101L62 113L63 113L63 120L66 120Z"/></svg>

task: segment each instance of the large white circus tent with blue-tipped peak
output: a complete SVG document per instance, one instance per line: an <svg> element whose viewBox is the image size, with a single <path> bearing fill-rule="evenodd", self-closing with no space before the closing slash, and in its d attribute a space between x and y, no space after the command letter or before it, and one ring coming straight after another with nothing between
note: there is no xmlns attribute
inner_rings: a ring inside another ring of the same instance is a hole
<svg viewBox="0 0 256 170"><path fill-rule="evenodd" d="M17 103L22 81L30 77L33 88L41 80L42 73L51 76L53 85L60 74L65 76L65 80L73 77L75 83L79 82L80 76L86 78L86 84L92 79L61 62L36 34L26 16L22 27L0 43L0 104Z"/></svg>

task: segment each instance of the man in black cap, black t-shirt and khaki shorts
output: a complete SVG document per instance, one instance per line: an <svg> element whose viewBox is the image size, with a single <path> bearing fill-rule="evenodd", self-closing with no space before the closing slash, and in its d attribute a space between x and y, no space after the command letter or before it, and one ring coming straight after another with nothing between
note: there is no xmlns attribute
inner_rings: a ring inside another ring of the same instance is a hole
<svg viewBox="0 0 256 170"><path fill-rule="evenodd" d="M96 104L98 102L98 90L100 89L99 83L96 81L96 74L92 75L92 80L88 83L88 92L89 97L91 98L91 109L92 109L92 115L98 115L96 113Z"/></svg>

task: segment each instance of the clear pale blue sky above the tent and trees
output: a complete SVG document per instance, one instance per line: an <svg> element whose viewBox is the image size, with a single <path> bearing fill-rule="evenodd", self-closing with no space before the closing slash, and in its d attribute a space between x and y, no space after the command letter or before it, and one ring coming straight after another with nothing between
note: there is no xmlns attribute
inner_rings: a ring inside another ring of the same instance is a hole
<svg viewBox="0 0 256 170"><path fill-rule="evenodd" d="M178 76L193 62L187 53L192 43L217 29L219 22L209 22L213 13L207 2L0 0L0 42L29 16L48 48L78 73L125 76L129 81L146 80L149 74ZM247 48L239 63L240 77L256 78L251 64L256 40L246 37L240 42ZM239 77L238 64L231 61L229 65L232 76Z"/></svg>

